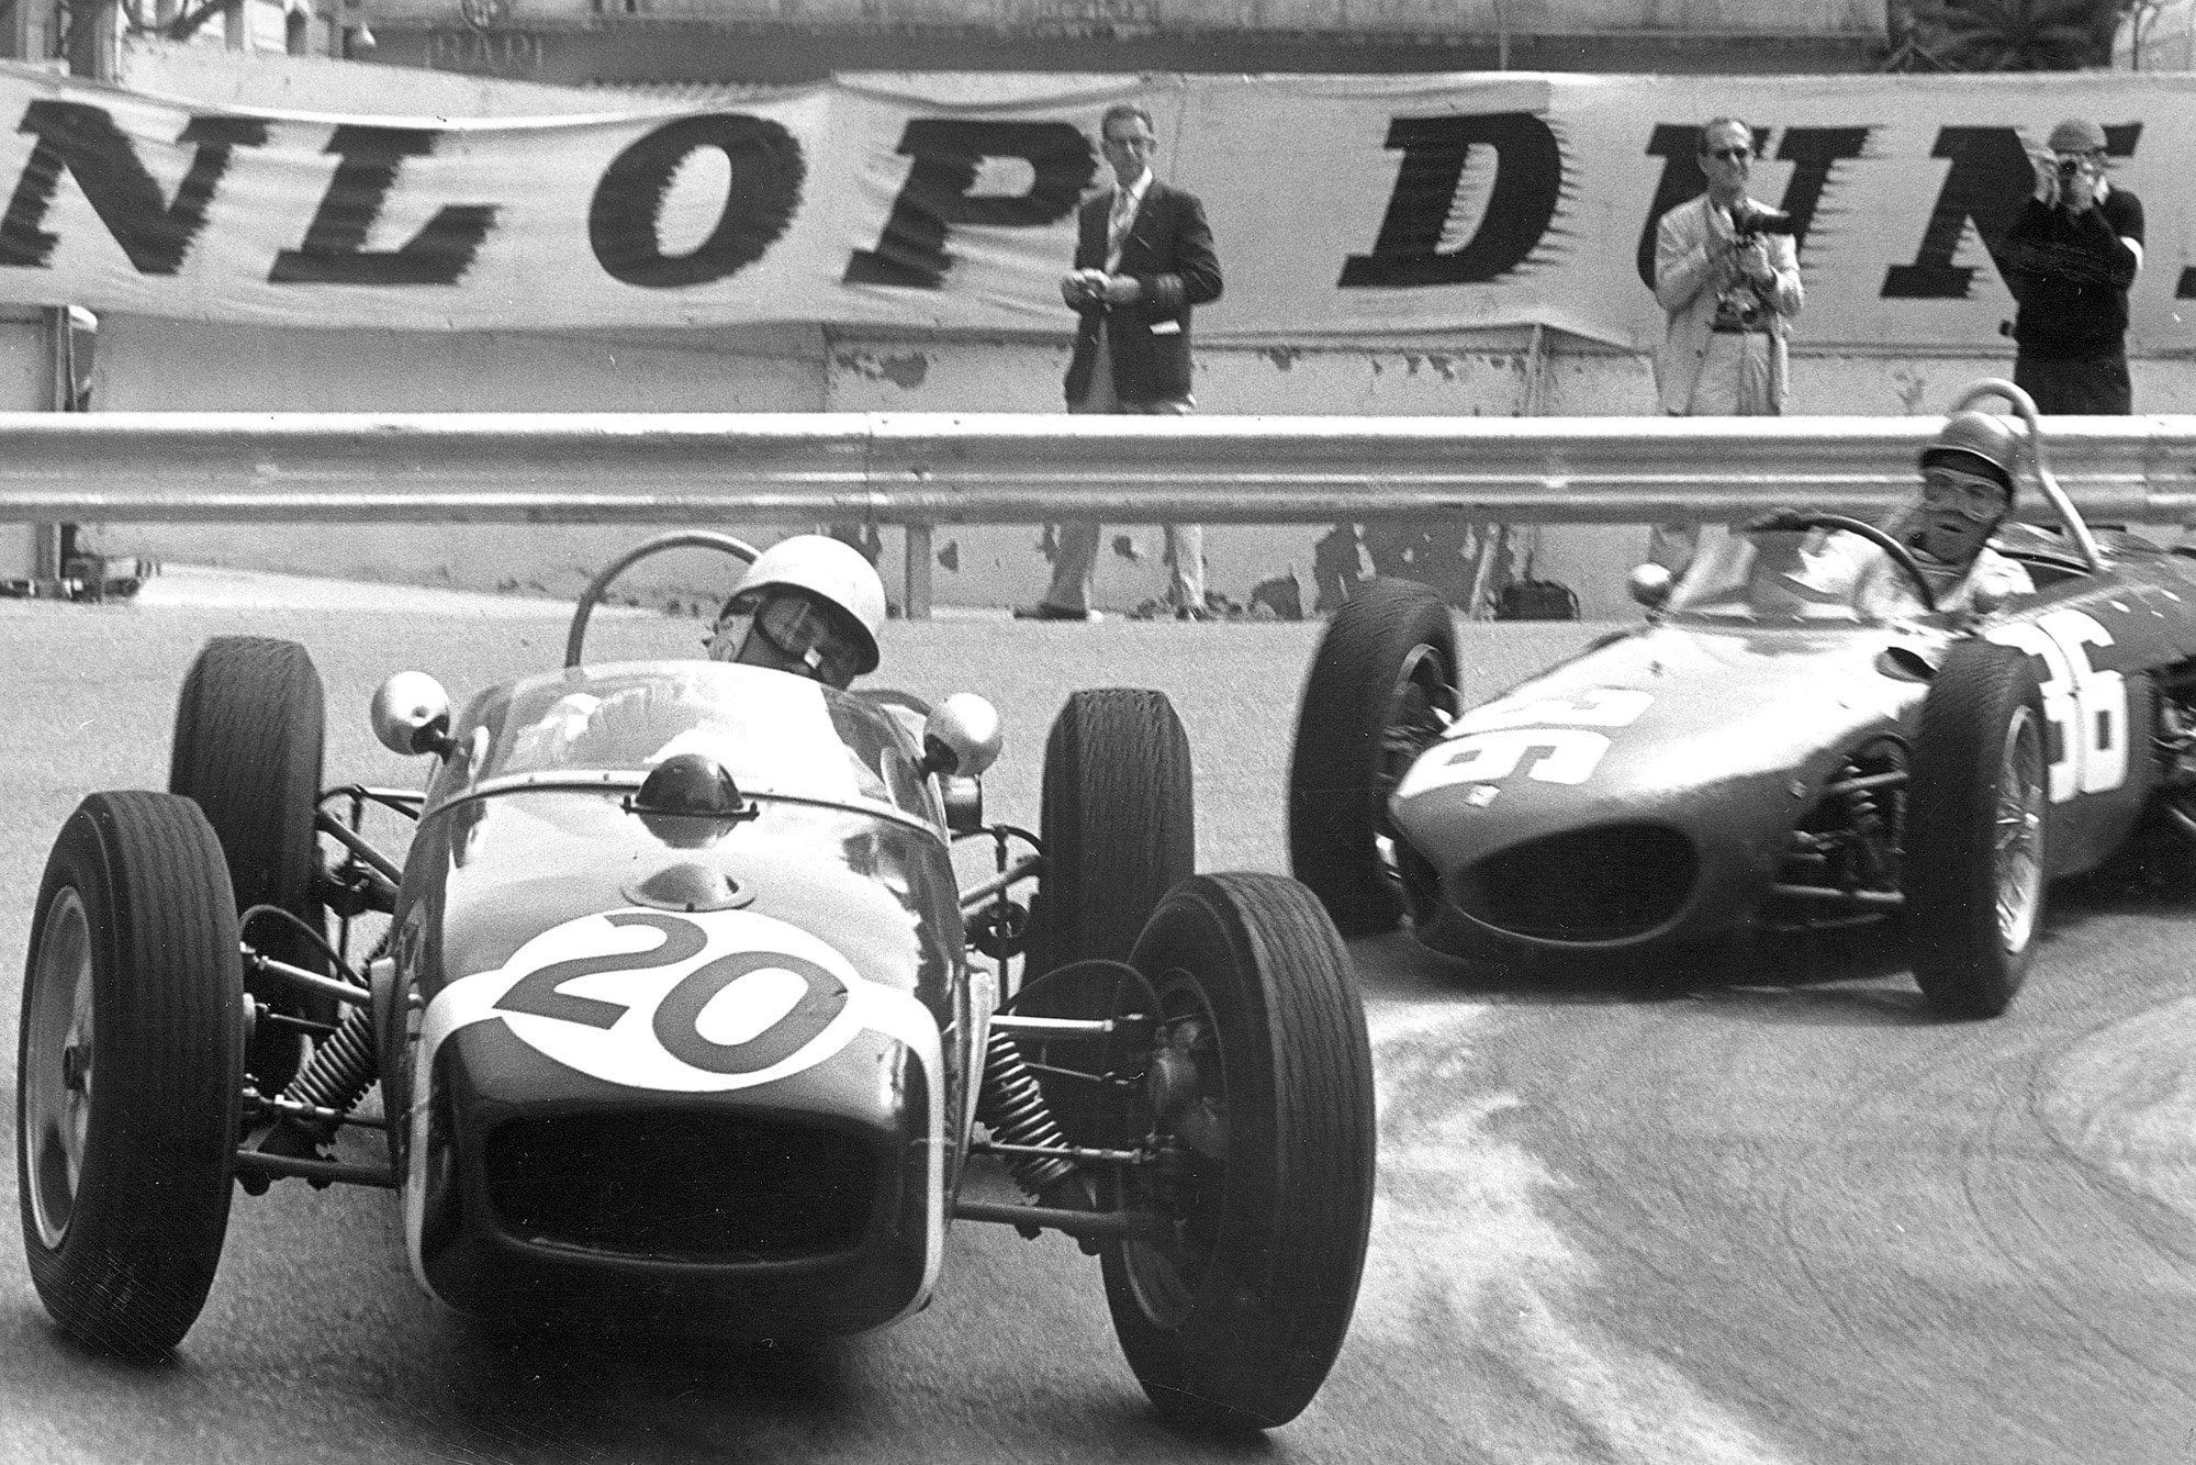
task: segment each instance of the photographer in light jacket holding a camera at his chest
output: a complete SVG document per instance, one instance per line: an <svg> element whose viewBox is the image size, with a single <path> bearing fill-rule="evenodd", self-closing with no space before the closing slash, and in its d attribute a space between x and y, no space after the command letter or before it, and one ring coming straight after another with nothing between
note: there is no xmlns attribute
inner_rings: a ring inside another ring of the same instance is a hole
<svg viewBox="0 0 2196 1465"><path fill-rule="evenodd" d="M1708 191L1656 224L1654 299L1669 316L1654 356L1656 393L1671 417L1783 415L1790 321L1801 307L1792 220L1746 198L1755 134L1737 116L1700 130ZM1656 525L1647 558L1682 571L1695 525Z"/></svg>

